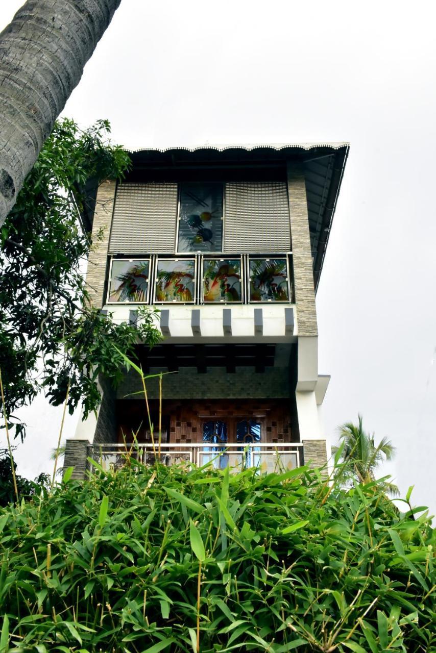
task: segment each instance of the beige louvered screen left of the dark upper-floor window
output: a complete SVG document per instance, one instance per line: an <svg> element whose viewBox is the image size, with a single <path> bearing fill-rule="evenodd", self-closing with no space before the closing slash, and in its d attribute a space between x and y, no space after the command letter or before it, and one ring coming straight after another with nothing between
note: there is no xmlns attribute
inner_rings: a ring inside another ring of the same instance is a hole
<svg viewBox="0 0 436 653"><path fill-rule="evenodd" d="M177 201L176 183L120 183L109 252L175 251Z"/></svg>

